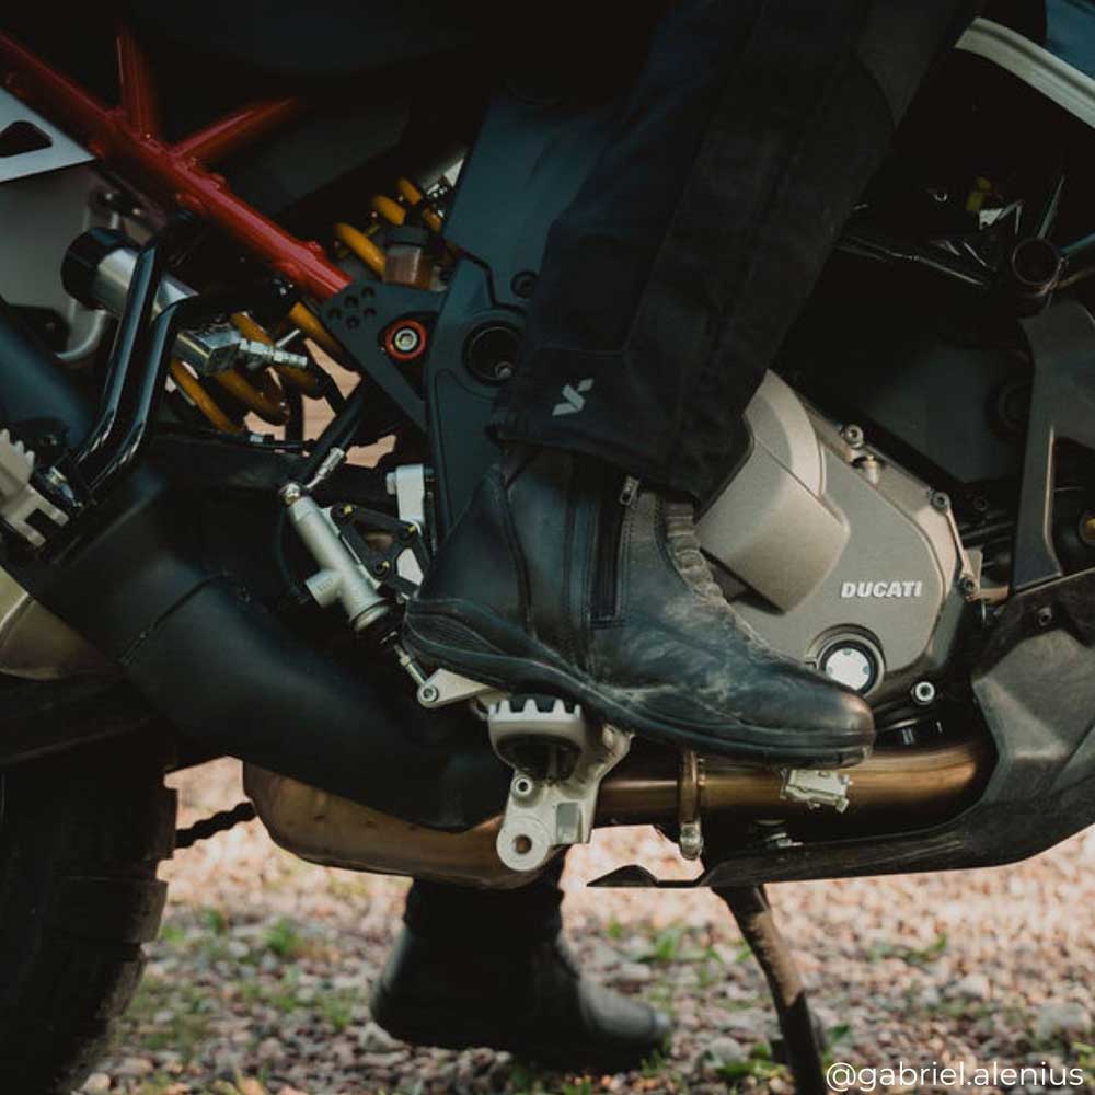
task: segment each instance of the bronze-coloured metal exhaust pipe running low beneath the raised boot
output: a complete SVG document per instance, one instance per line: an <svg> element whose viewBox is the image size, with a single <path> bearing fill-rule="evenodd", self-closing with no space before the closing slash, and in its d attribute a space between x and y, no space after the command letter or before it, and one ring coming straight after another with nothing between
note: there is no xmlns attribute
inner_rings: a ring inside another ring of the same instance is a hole
<svg viewBox="0 0 1095 1095"><path fill-rule="evenodd" d="M850 770L849 808L826 819L830 835L864 838L953 817L976 798L992 760L987 738L879 747ZM681 781L670 751L632 753L601 784L596 823L675 826L687 793ZM244 766L243 783L270 837L302 860L491 889L529 881L530 875L511 871L498 858L500 816L460 833L433 832L253 764ZM708 757L699 816L717 831L726 823L808 814L805 804L783 798L781 788L774 772Z"/></svg>

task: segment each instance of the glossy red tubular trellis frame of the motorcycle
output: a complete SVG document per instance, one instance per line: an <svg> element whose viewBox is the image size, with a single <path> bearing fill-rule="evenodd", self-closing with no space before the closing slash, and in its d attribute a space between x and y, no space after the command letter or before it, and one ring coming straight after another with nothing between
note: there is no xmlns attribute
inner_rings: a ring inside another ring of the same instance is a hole
<svg viewBox="0 0 1095 1095"><path fill-rule="evenodd" d="M128 170L155 196L221 228L318 300L349 284L314 240L302 241L232 193L209 164L275 129L299 110L296 99L253 103L184 140L164 143L155 83L128 27L117 33L122 103L107 106L14 38L0 33L0 67L12 94L26 100L95 157Z"/></svg>

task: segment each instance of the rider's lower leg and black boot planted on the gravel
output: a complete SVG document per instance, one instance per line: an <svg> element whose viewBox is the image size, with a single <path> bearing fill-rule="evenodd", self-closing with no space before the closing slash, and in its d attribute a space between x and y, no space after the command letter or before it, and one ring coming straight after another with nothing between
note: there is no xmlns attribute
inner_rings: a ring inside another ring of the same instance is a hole
<svg viewBox="0 0 1095 1095"><path fill-rule="evenodd" d="M415 881L372 993L373 1018L419 1045L493 1046L616 1071L662 1047L669 1021L580 973L562 938L562 858L516 890Z"/></svg>

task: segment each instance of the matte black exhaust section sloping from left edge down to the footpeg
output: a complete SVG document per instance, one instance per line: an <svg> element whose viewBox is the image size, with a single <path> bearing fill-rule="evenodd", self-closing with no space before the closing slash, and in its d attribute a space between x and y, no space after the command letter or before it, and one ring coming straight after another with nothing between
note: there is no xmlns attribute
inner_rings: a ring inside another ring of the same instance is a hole
<svg viewBox="0 0 1095 1095"><path fill-rule="evenodd" d="M0 300L0 425L35 448L49 434L73 447L91 424L90 401ZM184 736L437 829L466 829L505 800L509 772L470 715L419 707L396 667L373 684L301 642L205 565L158 473L136 469L80 520L87 533L61 557L4 546L0 566Z"/></svg>

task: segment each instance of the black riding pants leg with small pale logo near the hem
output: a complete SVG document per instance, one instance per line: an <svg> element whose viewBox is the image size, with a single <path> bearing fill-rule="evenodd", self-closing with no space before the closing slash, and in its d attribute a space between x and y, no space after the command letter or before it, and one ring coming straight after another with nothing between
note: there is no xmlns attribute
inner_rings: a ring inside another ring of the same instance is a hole
<svg viewBox="0 0 1095 1095"><path fill-rule="evenodd" d="M717 487L894 127L975 8L671 4L614 139L552 228L498 436L695 498Z"/></svg>

